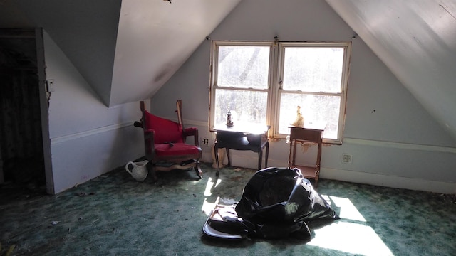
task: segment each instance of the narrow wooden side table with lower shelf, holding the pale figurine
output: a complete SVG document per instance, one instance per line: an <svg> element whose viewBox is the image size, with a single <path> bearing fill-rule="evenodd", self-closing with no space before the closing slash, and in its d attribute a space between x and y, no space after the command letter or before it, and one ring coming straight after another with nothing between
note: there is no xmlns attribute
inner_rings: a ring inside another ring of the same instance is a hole
<svg viewBox="0 0 456 256"><path fill-rule="evenodd" d="M289 168L298 168L301 170L304 178L313 178L315 186L318 186L318 178L320 176L320 162L321 162L321 144L323 142L324 127L290 127L290 151L289 151ZM312 142L317 144L318 152L316 156L315 166L302 166L296 165L296 143L297 142Z"/></svg>

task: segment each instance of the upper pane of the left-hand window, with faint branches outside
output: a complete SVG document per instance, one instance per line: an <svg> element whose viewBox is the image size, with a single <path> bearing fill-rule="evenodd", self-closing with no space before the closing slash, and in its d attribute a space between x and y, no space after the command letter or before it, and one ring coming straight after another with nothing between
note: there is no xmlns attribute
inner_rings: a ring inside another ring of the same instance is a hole
<svg viewBox="0 0 456 256"><path fill-rule="evenodd" d="M267 89L269 46L219 46L217 85Z"/></svg>

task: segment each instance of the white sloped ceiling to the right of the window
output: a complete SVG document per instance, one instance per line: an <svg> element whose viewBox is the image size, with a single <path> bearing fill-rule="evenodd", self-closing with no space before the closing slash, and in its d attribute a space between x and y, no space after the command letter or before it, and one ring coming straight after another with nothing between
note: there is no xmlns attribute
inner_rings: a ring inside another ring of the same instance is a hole
<svg viewBox="0 0 456 256"><path fill-rule="evenodd" d="M456 1L326 2L456 139Z"/></svg>

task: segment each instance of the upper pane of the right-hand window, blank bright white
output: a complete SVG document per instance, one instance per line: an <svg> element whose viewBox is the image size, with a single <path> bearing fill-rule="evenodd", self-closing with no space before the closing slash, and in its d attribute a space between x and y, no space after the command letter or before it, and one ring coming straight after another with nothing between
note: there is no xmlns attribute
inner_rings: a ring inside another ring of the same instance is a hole
<svg viewBox="0 0 456 256"><path fill-rule="evenodd" d="M283 89L341 92L343 49L286 47Z"/></svg>

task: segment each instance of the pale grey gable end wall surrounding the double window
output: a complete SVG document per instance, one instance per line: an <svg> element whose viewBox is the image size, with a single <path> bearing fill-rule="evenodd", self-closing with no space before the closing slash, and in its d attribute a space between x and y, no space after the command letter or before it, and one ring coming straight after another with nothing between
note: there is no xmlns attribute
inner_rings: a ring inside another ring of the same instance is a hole
<svg viewBox="0 0 456 256"><path fill-rule="evenodd" d="M212 40L353 41L342 145L323 146L321 178L456 193L456 142L410 95L324 1L244 0L213 31ZM152 112L175 117L182 99L188 125L208 132L210 41L202 43L152 97ZM375 110L375 112L373 111ZM203 159L210 161L210 147ZM303 162L311 161L315 146ZM343 153L353 154L342 164ZM256 168L257 154L232 151L233 164ZM288 145L271 142L269 166L286 166ZM203 170L204 171L204 170Z"/></svg>

